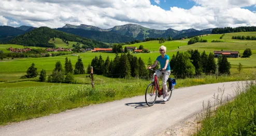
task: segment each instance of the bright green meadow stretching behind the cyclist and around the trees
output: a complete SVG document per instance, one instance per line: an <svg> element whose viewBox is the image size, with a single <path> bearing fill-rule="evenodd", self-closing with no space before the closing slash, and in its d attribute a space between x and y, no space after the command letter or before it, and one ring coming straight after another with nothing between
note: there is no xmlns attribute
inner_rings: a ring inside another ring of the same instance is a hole
<svg viewBox="0 0 256 136"><path fill-rule="evenodd" d="M167 47L166 54L172 57L179 52L186 52L188 49L198 49L199 52L206 51L207 54L213 53L214 50L237 50L240 55L246 48L252 49L252 56L250 58L228 58L231 63L231 76L221 76L216 79L216 75L200 76L195 78L177 79L176 88L189 87L199 84L216 83L225 81L238 81L238 80L253 80L256 77L256 41L251 40L234 40L232 36L256 36L253 32L237 32L226 33L223 39L219 39L221 35L208 35L203 36L202 39L207 39L207 43L195 43L188 45L189 39L165 41L159 43L159 41L141 42L132 45L124 46L136 46L143 45L144 48L150 50L150 53L131 53L134 56L141 57L145 64L150 57L152 62L157 58L159 53L159 47L164 45ZM222 40L225 42L211 43L211 40ZM52 39L49 42L53 42L58 47L70 48L76 42L69 42L67 46L61 39ZM13 48L23 48L21 45L5 45L0 44L0 49L4 52L9 52L6 48L12 46ZM123 46L123 48L124 48ZM32 47L31 47L32 48ZM38 48L38 47L35 47ZM101 55L104 60L107 56L110 59L114 59L116 54L113 53L78 53L81 57L84 68L87 69L88 64L95 56ZM0 60L0 114L4 115L4 118L0 120L0 124L6 124L8 122L23 121L33 117L39 117L49 115L51 113L58 113L67 109L72 109L81 106L87 106L90 104L105 103L107 101L132 97L136 95L143 95L147 84L150 82L146 79L120 79L120 78L108 78L102 75L94 75L95 90L98 94L95 94L91 90L91 80L86 77L88 74L74 75L75 80L79 84L66 84L66 83L49 83L38 82L38 77L21 79L21 76L26 74L26 70L35 63L38 73L44 69L47 75L52 74L56 61L61 61L64 67L65 58L71 60L73 68L77 62L78 56L64 55L45 58L14 58ZM244 69L237 71L238 63L243 64ZM171 75L170 77L173 77ZM81 87L86 90L81 90ZM62 92L63 91L63 92ZM61 92L61 93L60 93ZM12 100L15 94L16 99L20 101ZM108 95L111 94L111 95ZM40 98L41 97L41 98ZM53 100L53 98L57 100ZM59 101L58 101L59 100ZM35 101L43 101L35 103ZM22 105L16 105L21 103ZM35 104L32 107L29 104ZM55 103L54 105L51 105ZM12 106L13 110L5 111L5 106ZM63 107L63 108L58 108ZM24 111L17 109L24 108ZM15 110L16 109L16 110Z"/></svg>

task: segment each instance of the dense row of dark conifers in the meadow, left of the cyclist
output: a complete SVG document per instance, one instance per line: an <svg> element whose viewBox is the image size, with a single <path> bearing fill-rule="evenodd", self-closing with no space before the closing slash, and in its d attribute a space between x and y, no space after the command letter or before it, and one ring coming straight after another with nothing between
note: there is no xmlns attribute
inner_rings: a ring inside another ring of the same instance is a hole
<svg viewBox="0 0 256 136"><path fill-rule="evenodd" d="M109 77L131 78L131 77L146 77L148 71L144 61L139 57L130 53L121 54L112 60L109 57L104 61L102 56L95 56L88 65L87 73L90 73L90 67L93 66L93 73L106 75Z"/></svg>

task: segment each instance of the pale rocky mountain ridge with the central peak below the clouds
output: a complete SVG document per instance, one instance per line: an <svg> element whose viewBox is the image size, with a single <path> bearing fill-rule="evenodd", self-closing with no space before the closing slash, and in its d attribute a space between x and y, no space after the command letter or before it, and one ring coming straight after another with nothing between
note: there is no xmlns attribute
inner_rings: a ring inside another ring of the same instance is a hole
<svg viewBox="0 0 256 136"><path fill-rule="evenodd" d="M167 30L156 30L156 29L150 29L146 28L140 25L134 25L134 24L126 24L121 26L115 26L113 28L109 29L102 29L95 26L89 26L89 25L65 25L63 28L81 28L85 30L95 30L95 31L110 31L114 33L118 33L120 35L133 37L138 40L144 40L146 38L168 38L169 36L173 39L180 39L182 37L193 37L198 35L205 35L211 33L210 29L204 29L204 30L195 30L195 29L187 29L187 30L174 30L174 29L167 29Z"/></svg>

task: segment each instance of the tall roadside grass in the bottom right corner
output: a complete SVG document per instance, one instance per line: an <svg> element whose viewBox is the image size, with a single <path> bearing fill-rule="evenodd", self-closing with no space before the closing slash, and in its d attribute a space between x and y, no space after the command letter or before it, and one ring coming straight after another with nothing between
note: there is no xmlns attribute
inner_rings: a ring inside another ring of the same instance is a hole
<svg viewBox="0 0 256 136"><path fill-rule="evenodd" d="M211 110L208 101L201 128L193 135L255 135L256 133L256 85L238 87L234 100L223 104L225 98L216 99L217 110ZM224 91L224 90L222 90Z"/></svg>

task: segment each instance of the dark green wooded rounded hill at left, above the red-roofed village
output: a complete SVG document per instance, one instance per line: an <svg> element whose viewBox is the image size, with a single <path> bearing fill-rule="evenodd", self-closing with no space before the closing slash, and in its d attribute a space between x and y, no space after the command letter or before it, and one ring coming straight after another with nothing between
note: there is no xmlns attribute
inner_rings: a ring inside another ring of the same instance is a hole
<svg viewBox="0 0 256 136"><path fill-rule="evenodd" d="M95 40L82 38L59 30L51 29L49 27L39 27L32 31L26 32L24 35L18 36L10 41L9 44L19 44L24 46L38 46L38 47L55 47L54 43L49 43L51 38L65 39L66 41L81 42L91 48L93 47L108 47L108 45Z"/></svg>

